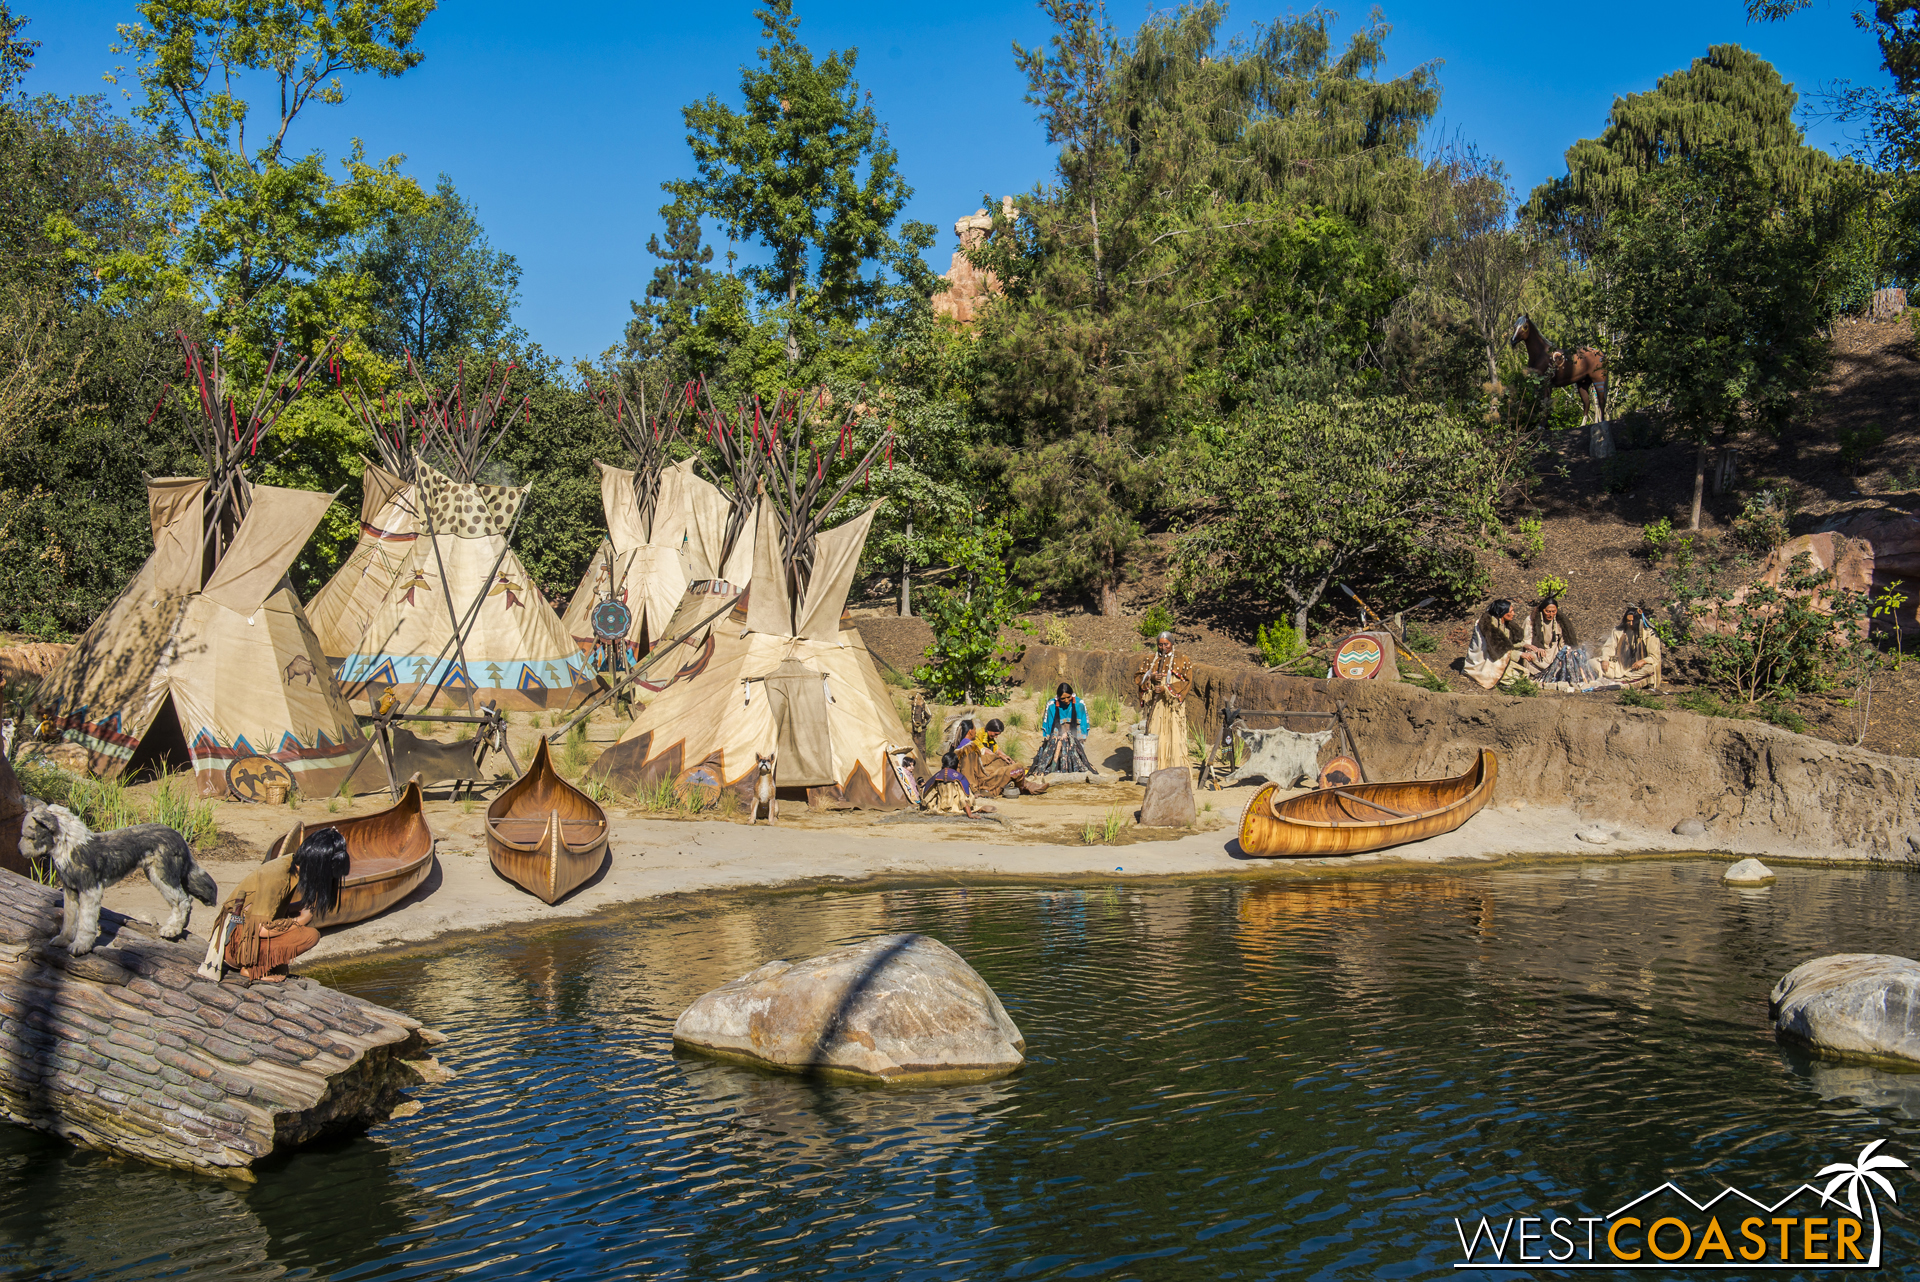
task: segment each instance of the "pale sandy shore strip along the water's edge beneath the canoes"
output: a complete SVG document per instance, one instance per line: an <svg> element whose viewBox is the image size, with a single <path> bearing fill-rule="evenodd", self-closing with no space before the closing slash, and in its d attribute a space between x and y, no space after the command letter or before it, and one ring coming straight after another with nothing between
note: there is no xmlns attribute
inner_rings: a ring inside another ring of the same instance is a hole
<svg viewBox="0 0 1920 1282"><path fill-rule="evenodd" d="M1096 785L1081 785L1094 791ZM1110 785L1125 787L1125 785ZM1068 789L1060 789L1066 793ZM1135 789L1137 793L1139 789ZM407 900L386 914L328 931L301 958L303 965L396 948L432 946L468 933L540 923L578 923L624 904L676 894L728 892L804 885L862 885L876 881L989 885L1006 881L1116 881L1116 879L1302 879L1346 877L1392 869L1486 869L1511 864L1622 860L1638 854L1703 854L1728 862L1759 854L1776 862L1816 860L1868 864L1845 852L1755 848L1741 843L1722 848L1707 837L1676 837L1640 827L1619 827L1607 844L1574 837L1592 819L1565 806L1507 802L1490 806L1459 831L1394 850L1325 860L1254 860L1233 844L1238 810L1254 789L1213 793L1217 827L1167 837L1142 837L1131 829L1127 844L1056 844L1021 837L995 821L927 821L922 816L860 816L858 827L831 823L854 816L806 816L810 821L778 829L728 821L614 818L612 858L605 871L561 904L547 906L499 877L486 856L484 818L476 810L434 818L436 871ZM1219 798L1233 798L1231 814ZM1041 800L1041 798L1023 798ZM1056 798L1069 800L1069 798ZM1006 802L1004 812L1021 802ZM445 806L453 810L453 806ZM822 821L826 819L826 821ZM309 823L313 818L307 819ZM238 854L238 852L236 852ZM257 858L252 856L252 858ZM221 887L244 875L246 858L209 862ZM159 894L146 879L113 887L106 904L117 912L157 921ZM207 910L196 910L205 927ZM296 967L298 969L298 967Z"/></svg>

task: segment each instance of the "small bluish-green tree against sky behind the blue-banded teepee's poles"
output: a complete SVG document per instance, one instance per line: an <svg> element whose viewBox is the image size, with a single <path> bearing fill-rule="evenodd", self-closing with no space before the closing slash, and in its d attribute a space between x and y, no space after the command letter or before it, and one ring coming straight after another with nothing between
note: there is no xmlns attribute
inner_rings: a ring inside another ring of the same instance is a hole
<svg viewBox="0 0 1920 1282"><path fill-rule="evenodd" d="M434 194L380 221L359 253L372 280L367 344L388 359L405 353L440 368L463 351L524 342L513 324L520 265L493 249L478 211L440 175Z"/></svg>

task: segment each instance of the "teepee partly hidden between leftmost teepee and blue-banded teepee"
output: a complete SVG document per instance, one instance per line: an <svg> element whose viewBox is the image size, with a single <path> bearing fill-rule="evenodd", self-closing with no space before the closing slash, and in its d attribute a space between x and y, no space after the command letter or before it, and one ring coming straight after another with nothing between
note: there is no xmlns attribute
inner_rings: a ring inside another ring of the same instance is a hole
<svg viewBox="0 0 1920 1282"><path fill-rule="evenodd" d="M359 649L367 624L399 585L420 537L405 403L380 397L380 413L374 413L365 392L357 401L346 388L340 395L372 434L380 463L361 457L367 472L361 476L359 539L346 564L307 603L321 651L336 670Z"/></svg>

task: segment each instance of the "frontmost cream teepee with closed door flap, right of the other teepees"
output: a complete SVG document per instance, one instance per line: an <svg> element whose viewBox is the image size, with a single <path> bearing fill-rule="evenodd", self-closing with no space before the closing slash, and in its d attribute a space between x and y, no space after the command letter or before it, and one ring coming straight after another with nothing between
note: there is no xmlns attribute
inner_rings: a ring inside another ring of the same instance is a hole
<svg viewBox="0 0 1920 1282"><path fill-rule="evenodd" d="M822 403L818 397L812 407ZM753 518L745 608L712 624L593 764L591 773L611 785L672 783L687 795L733 789L751 802L756 758L772 754L776 785L806 789L812 806L912 804L904 783L912 739L866 643L841 620L879 505L820 528L891 445L891 432L822 501L828 461L804 449L806 405L783 397L772 426L753 438L766 484ZM781 424L787 441L780 439ZM849 436L851 411L841 420L841 449Z"/></svg>

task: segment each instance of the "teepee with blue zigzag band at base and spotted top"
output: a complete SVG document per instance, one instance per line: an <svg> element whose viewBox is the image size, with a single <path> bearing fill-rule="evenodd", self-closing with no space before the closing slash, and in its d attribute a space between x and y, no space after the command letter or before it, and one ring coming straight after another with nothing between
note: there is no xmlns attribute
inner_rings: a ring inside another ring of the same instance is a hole
<svg viewBox="0 0 1920 1282"><path fill-rule="evenodd" d="M564 708L584 697L591 674L513 553L526 503L524 486L480 484L501 438L528 409L511 415L507 384L484 380L468 401L465 367L451 392L424 392L413 424L417 524L394 587L340 664L349 699L376 702L424 697L478 706ZM436 466L438 464L438 466Z"/></svg>

